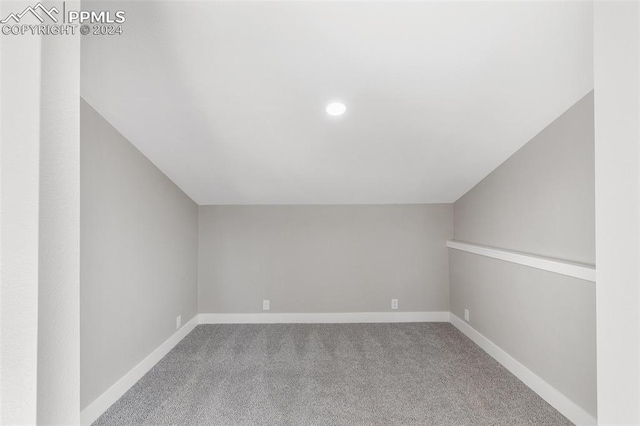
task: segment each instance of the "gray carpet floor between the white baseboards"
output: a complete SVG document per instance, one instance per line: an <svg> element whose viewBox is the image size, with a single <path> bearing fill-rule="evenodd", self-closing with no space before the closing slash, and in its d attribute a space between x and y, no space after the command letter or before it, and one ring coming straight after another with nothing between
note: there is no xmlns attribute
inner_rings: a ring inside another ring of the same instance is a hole
<svg viewBox="0 0 640 426"><path fill-rule="evenodd" d="M448 323L200 325L94 425L570 425Z"/></svg>

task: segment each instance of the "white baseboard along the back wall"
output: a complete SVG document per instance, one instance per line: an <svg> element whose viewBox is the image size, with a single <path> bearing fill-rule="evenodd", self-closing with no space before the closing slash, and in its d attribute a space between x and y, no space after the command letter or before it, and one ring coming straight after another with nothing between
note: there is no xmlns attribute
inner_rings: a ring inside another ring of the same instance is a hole
<svg viewBox="0 0 640 426"><path fill-rule="evenodd" d="M449 312L335 312L200 314L200 324L331 324L449 322Z"/></svg>

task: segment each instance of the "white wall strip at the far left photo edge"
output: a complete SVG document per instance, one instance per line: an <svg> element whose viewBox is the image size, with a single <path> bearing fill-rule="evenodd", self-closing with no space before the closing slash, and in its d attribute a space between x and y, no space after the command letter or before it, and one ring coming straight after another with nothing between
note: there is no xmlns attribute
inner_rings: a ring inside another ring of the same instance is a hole
<svg viewBox="0 0 640 426"><path fill-rule="evenodd" d="M0 13L27 6L0 2ZM28 425L38 405L41 39L0 44L0 424Z"/></svg>

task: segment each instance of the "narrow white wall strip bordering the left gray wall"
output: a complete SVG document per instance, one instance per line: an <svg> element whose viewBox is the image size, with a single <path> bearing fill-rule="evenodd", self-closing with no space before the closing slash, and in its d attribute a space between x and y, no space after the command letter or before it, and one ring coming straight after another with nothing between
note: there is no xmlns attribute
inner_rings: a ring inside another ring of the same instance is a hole
<svg viewBox="0 0 640 426"><path fill-rule="evenodd" d="M80 422L80 38L41 43L37 423L71 425Z"/></svg>

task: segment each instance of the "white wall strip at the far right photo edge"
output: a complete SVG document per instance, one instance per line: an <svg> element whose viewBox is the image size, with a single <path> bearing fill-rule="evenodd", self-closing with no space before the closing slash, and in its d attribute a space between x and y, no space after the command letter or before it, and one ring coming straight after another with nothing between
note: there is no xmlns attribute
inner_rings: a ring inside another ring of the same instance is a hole
<svg viewBox="0 0 640 426"><path fill-rule="evenodd" d="M594 3L594 58L598 420L640 424L638 2Z"/></svg>

